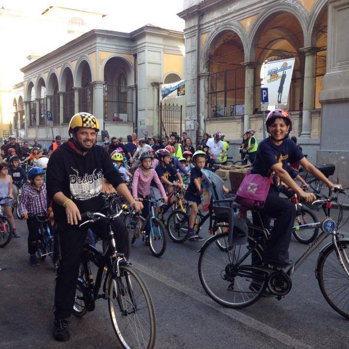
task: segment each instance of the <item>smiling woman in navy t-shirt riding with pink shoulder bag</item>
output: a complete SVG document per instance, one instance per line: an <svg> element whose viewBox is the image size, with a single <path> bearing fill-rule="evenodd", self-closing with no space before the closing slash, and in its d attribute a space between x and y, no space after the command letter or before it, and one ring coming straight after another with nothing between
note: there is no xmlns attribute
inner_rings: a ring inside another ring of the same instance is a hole
<svg viewBox="0 0 349 349"><path fill-rule="evenodd" d="M317 168L304 158L297 144L288 138L292 130L292 119L283 109L270 111L266 119L269 137L258 146L256 159L252 168L253 174L272 176L272 183L265 204L259 210L264 227L269 228L270 217L274 218L271 238L267 241L263 260L281 268L289 265L288 247L296 215L292 203L279 197L279 188L284 182L306 202L316 200L313 193L304 192L287 172L287 164L300 161L304 170L322 180L333 189L334 185ZM253 212L254 224L260 225L258 215Z"/></svg>

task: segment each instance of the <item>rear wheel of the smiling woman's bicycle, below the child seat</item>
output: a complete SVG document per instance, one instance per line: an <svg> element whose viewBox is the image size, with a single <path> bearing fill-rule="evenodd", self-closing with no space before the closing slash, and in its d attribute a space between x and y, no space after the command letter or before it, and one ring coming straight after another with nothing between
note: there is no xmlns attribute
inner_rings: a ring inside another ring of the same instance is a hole
<svg viewBox="0 0 349 349"><path fill-rule="evenodd" d="M220 244L217 244L218 239L222 239ZM255 247L255 260L252 264L252 254L249 250L255 244L254 239L248 237L248 243L239 246L228 246L227 239L228 232L224 232L206 241L199 257L199 278L205 292L215 302L227 308L244 308L262 296L267 282L255 280L252 276L248 279L246 271L243 276L234 275L236 264L234 265L231 261L238 261L248 254L245 261L251 260L251 262L244 264L245 266L262 265L262 249L259 245ZM219 248L219 245L222 244L226 246L224 251ZM241 249L243 249L242 253L240 253ZM254 275L256 275L255 272ZM237 278L239 279L237 280Z"/></svg>

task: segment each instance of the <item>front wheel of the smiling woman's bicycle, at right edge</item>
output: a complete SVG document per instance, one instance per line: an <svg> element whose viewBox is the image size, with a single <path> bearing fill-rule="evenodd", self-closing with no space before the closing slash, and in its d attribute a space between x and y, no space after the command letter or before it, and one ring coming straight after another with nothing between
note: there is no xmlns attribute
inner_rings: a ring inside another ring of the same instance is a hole
<svg viewBox="0 0 349 349"><path fill-rule="evenodd" d="M348 255L348 252L343 250L348 250L349 239L338 240L337 245L340 254ZM348 269L349 264L346 263L345 258L342 257L342 259ZM339 263L333 243L330 243L320 254L316 270L317 281L325 300L338 314L349 319L349 277ZM343 292L347 294L343 295Z"/></svg>

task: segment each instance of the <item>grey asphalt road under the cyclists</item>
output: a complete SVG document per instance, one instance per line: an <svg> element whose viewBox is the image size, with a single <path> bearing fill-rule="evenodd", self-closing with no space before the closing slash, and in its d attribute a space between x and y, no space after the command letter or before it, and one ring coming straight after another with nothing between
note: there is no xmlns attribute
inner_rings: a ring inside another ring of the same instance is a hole
<svg viewBox="0 0 349 349"><path fill-rule="evenodd" d="M16 222L22 237L0 249L0 348L120 348L104 300L97 301L94 312L70 318L69 342L53 340L55 273L49 260L39 267L29 265L26 223ZM349 223L341 232L349 235ZM204 229L203 236L208 237ZM327 304L315 279L317 252L293 275L292 290L281 301L263 298L233 310L208 298L200 284L201 244L169 239L165 254L156 258L140 239L135 242L131 261L156 308L156 348L349 348L349 322ZM305 248L292 238L290 257L296 259Z"/></svg>

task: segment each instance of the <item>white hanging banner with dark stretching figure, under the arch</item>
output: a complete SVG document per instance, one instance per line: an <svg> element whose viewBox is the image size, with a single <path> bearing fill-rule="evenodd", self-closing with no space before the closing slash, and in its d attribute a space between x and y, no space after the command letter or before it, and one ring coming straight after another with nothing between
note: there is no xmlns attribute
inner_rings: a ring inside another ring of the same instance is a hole
<svg viewBox="0 0 349 349"><path fill-rule="evenodd" d="M295 58L268 62L264 87L268 87L269 105L287 104Z"/></svg>

